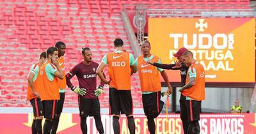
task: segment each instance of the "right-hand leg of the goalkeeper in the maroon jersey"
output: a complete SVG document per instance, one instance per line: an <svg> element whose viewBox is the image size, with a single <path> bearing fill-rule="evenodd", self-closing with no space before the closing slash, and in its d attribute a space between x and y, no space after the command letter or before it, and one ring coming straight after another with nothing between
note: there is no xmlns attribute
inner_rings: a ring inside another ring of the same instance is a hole
<svg viewBox="0 0 256 134"><path fill-rule="evenodd" d="M100 134L104 133L104 128L103 124L101 122L101 117L100 117L100 102L99 99L92 99L92 108L91 108L91 113L93 114L93 118L95 119L95 126L97 130L99 131Z"/></svg>

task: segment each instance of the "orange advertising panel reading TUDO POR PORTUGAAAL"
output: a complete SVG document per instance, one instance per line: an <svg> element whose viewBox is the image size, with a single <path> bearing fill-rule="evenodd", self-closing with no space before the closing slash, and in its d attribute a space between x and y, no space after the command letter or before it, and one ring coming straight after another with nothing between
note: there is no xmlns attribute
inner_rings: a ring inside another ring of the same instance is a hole
<svg viewBox="0 0 256 134"><path fill-rule="evenodd" d="M205 69L205 82L255 82L255 19L149 18L151 52L162 63L177 60L181 47L193 52ZM167 71L180 82L179 71Z"/></svg>

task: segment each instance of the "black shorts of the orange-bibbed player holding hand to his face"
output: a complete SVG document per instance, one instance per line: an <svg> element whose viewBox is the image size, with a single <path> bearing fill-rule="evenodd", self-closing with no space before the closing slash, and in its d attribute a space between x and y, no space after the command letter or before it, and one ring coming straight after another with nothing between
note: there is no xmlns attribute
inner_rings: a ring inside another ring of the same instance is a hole
<svg viewBox="0 0 256 134"><path fill-rule="evenodd" d="M45 119L54 119L58 113L58 100L44 100L44 117Z"/></svg>

